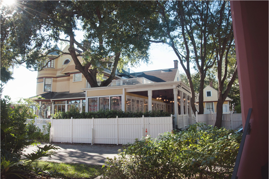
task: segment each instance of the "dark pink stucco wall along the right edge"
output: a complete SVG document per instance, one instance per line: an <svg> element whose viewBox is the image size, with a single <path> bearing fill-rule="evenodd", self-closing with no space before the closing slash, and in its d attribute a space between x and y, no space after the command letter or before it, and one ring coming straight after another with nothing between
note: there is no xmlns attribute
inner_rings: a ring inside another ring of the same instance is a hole
<svg viewBox="0 0 269 179"><path fill-rule="evenodd" d="M238 178L262 178L268 163L268 1L231 1L243 126L249 108ZM268 176L268 172L267 172Z"/></svg>

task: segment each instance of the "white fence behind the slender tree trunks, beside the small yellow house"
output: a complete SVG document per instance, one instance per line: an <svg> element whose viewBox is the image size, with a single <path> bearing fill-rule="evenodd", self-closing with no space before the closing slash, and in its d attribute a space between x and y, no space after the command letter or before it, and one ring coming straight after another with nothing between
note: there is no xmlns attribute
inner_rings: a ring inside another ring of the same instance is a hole
<svg viewBox="0 0 269 179"><path fill-rule="evenodd" d="M196 114L196 116L196 122L203 122L207 125L215 125L217 114L211 112L210 114ZM229 114L222 114L221 127L225 127L226 129L235 129L241 124L241 114L233 114L232 112Z"/></svg>

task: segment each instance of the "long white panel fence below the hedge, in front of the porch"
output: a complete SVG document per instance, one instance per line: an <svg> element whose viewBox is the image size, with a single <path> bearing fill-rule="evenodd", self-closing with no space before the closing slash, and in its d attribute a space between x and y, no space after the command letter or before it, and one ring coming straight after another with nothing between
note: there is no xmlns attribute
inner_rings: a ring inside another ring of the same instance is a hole
<svg viewBox="0 0 269 179"><path fill-rule="evenodd" d="M171 117L52 119L51 142L127 144L136 138L171 132ZM146 132L147 131L147 132Z"/></svg>

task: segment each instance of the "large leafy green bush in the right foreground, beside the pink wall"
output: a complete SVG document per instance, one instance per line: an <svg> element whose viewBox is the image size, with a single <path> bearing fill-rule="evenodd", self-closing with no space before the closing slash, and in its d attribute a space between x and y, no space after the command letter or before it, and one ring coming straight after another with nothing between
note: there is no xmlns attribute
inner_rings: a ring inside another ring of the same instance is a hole
<svg viewBox="0 0 269 179"><path fill-rule="evenodd" d="M158 139L136 139L108 159L104 178L231 178L241 137L196 123Z"/></svg>

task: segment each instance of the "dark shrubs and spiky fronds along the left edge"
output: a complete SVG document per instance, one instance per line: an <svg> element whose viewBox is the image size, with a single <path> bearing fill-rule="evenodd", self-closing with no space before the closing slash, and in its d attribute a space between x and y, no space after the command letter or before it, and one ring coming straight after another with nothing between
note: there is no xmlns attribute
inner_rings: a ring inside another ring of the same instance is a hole
<svg viewBox="0 0 269 179"><path fill-rule="evenodd" d="M28 175L34 176L62 176L57 172L43 171L35 174L32 170L31 163L41 157L51 157L55 152L51 150L58 150L59 148L53 145L45 145L38 147L36 151L30 154L23 154L23 149L28 145L36 145L35 141L30 141L27 134L27 129L31 132L35 131L33 127L26 127L26 119L34 117L32 110L20 104L11 105L10 98L5 96L2 98L1 85L1 164L0 176L1 178L28 178ZM27 158L26 161L20 161L21 156ZM42 170L42 169L41 169ZM45 173L44 173L45 172ZM42 177L42 178L45 178ZM64 176L62 176L64 177Z"/></svg>

